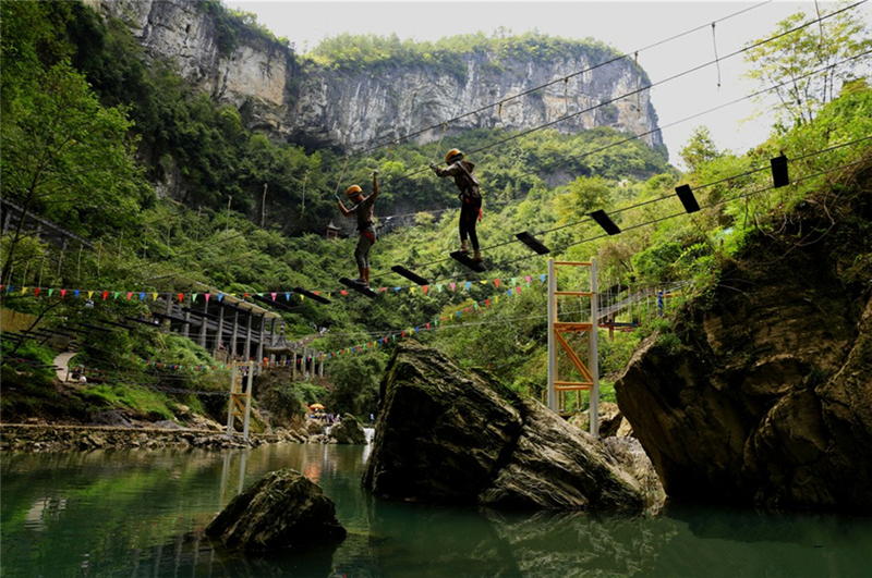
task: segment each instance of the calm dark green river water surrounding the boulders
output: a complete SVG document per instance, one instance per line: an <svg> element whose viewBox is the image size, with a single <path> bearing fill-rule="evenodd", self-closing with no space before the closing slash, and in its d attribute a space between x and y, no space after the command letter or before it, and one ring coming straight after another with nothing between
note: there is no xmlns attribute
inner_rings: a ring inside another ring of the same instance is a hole
<svg viewBox="0 0 872 578"><path fill-rule="evenodd" d="M0 455L0 576L872 577L872 519L667 506L658 516L396 504L360 487L368 446ZM290 467L332 499L336 548L229 554L204 528Z"/></svg>

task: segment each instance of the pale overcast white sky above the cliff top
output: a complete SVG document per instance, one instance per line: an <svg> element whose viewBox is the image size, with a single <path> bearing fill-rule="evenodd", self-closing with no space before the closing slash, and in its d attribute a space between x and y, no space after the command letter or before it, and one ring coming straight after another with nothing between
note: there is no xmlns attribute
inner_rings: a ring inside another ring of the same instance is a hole
<svg viewBox="0 0 872 578"><path fill-rule="evenodd" d="M276 36L287 37L298 51L342 33L375 34L420 41L500 27L514 34L537 30L569 39L594 38L621 53L635 54L652 82L652 103L663 127L669 160L681 165L678 151L692 132L705 125L718 150L742 153L765 140L772 125L761 106L741 99L759 89L742 78L742 56L730 57L748 42L775 30L776 23L799 10L811 17L826 14L831 2L794 1L544 1L544 2L370 2L295 0L225 0L237 10L254 12ZM870 4L859 10L869 17ZM749 10L750 9L750 10ZM742 12L746 11L746 12ZM740 13L742 12L742 13ZM737 14L738 13L738 14ZM712 23L715 23L714 30ZM687 34L685 34L687 33ZM678 38L671 39L675 36ZM657 45L657 46L654 46ZM717 56L715 56L717 54ZM717 64L670 79L690 69ZM572 73L576 71L566 71ZM724 108L707 112L722 104ZM698 118L691 119L695 114Z"/></svg>

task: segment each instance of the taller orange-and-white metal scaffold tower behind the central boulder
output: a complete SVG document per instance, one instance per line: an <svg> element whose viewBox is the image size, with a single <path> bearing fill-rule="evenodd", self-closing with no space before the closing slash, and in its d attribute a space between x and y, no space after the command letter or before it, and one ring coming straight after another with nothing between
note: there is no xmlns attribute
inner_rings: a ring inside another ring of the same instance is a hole
<svg viewBox="0 0 872 578"><path fill-rule="evenodd" d="M590 268L590 291L557 291L556 267ZM591 315L588 321L568 321L559 319L558 298L590 298ZM555 261L548 259L548 407L559 410L559 396L567 391L590 391L591 434L600 435L600 364L597 360L597 325L600 324L596 306L596 261ZM585 366L578 353L564 336L565 333L588 333L588 364ZM558 377L558 347L560 346L569 360L581 374L582 381L565 381Z"/></svg>

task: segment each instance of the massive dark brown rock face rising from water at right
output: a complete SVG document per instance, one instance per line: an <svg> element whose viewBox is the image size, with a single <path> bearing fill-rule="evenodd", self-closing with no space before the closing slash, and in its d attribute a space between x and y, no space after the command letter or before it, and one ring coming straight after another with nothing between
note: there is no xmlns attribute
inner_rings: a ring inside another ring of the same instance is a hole
<svg viewBox="0 0 872 578"><path fill-rule="evenodd" d="M670 497L872 507L870 182L761 234L617 381Z"/></svg>

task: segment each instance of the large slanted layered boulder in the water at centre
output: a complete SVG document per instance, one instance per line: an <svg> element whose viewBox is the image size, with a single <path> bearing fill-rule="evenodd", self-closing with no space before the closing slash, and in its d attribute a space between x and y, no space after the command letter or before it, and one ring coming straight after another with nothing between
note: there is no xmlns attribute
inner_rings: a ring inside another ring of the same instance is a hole
<svg viewBox="0 0 872 578"><path fill-rule="evenodd" d="M642 484L600 440L486 373L413 342L397 347L364 487L391 500L643 509Z"/></svg>

